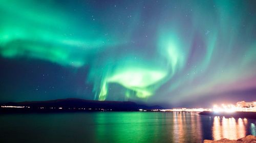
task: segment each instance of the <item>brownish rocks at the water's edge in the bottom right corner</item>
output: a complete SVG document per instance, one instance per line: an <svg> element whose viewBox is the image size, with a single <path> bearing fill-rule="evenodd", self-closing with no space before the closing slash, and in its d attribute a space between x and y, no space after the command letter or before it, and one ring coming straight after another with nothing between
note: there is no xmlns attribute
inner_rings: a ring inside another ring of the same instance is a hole
<svg viewBox="0 0 256 143"><path fill-rule="evenodd" d="M256 136L254 135L247 135L243 138L238 140L230 140L226 138L222 138L220 140L208 140L205 139L204 143L256 143Z"/></svg>

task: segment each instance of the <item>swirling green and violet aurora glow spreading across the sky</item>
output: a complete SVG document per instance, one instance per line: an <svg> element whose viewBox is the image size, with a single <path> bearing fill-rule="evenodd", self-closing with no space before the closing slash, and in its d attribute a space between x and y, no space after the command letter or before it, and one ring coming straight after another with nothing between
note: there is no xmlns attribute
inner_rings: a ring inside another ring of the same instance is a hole
<svg viewBox="0 0 256 143"><path fill-rule="evenodd" d="M152 1L80 3L1 0L0 54L89 66L95 100L119 87L117 100L177 102L256 77L256 20L242 1L162 1L151 16Z"/></svg>

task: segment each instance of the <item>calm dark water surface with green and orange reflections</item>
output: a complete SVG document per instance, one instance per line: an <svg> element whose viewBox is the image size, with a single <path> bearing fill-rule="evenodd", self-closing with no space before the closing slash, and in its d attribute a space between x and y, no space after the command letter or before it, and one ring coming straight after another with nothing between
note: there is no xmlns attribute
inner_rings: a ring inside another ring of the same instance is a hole
<svg viewBox="0 0 256 143"><path fill-rule="evenodd" d="M202 142L256 135L256 120L196 112L76 112L0 115L0 142Z"/></svg>

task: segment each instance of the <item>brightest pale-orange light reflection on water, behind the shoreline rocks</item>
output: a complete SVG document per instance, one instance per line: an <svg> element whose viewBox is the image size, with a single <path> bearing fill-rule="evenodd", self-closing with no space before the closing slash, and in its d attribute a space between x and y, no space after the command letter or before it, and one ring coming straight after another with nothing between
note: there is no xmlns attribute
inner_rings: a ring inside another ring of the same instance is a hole
<svg viewBox="0 0 256 143"><path fill-rule="evenodd" d="M245 126L247 126L246 119L215 117L214 125L212 127L212 136L215 140L221 138L239 139L246 135Z"/></svg>

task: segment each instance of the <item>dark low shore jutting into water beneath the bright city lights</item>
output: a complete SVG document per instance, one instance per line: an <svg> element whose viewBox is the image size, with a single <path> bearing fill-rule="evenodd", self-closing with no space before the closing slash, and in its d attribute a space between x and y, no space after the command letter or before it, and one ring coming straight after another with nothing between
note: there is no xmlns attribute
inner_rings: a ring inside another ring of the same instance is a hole
<svg viewBox="0 0 256 143"><path fill-rule="evenodd" d="M202 111L199 115L205 116L222 116L222 117L233 117L233 118L248 118L248 119L256 119L256 112L214 112L214 111Z"/></svg>

